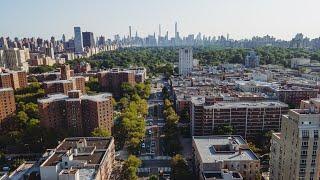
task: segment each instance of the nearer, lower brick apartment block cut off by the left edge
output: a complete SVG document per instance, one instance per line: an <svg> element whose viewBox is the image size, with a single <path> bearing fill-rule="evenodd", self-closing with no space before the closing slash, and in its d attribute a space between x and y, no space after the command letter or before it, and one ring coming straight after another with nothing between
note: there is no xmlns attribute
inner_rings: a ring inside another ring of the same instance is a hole
<svg viewBox="0 0 320 180"><path fill-rule="evenodd" d="M12 88L0 88L0 129L6 118L16 111L16 103Z"/></svg>

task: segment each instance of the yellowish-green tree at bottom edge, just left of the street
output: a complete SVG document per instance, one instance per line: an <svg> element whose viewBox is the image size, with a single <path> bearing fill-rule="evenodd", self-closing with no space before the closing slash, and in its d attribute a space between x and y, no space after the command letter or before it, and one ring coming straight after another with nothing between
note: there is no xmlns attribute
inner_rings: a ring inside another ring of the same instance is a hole
<svg viewBox="0 0 320 180"><path fill-rule="evenodd" d="M137 170L141 165L141 160L136 156L130 155L128 159L124 162L122 168L122 178L123 180L137 180Z"/></svg>

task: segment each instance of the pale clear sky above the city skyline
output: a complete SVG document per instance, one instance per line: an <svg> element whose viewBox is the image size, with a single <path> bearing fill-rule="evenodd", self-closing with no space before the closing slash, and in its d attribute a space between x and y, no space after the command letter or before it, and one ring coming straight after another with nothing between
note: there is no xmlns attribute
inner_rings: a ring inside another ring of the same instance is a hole
<svg viewBox="0 0 320 180"><path fill-rule="evenodd" d="M73 27L113 38L156 32L202 34L243 39L296 33L320 36L320 0L0 0L0 36L73 36Z"/></svg>

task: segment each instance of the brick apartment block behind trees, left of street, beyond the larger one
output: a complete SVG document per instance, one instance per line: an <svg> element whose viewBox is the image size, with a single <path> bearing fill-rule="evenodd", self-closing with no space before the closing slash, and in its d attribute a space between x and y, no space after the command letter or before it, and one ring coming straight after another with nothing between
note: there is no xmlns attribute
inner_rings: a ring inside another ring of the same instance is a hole
<svg viewBox="0 0 320 180"><path fill-rule="evenodd" d="M121 92L121 85L129 83L134 85L135 74L133 71L111 69L109 71L99 72L98 81L103 91L111 92L114 96L119 96Z"/></svg>

